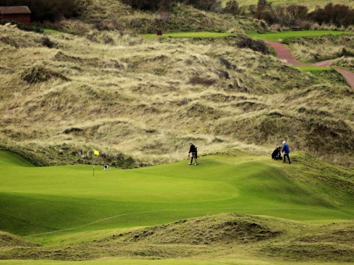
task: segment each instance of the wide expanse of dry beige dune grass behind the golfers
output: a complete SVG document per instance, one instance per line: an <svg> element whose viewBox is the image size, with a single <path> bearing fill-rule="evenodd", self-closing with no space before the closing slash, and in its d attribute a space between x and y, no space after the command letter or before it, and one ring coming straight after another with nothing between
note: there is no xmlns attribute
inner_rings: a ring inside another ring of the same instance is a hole
<svg viewBox="0 0 354 265"><path fill-rule="evenodd" d="M184 158L190 141L201 153L235 146L270 152L285 139L330 161L352 155L354 93L335 74L314 76L223 42L92 31L95 40L50 35L57 47L50 49L40 34L0 32L11 40L0 41L0 141L91 145L150 165ZM35 66L71 81L22 80ZM193 77L212 85L194 85ZM349 157L338 163L353 165Z"/></svg>

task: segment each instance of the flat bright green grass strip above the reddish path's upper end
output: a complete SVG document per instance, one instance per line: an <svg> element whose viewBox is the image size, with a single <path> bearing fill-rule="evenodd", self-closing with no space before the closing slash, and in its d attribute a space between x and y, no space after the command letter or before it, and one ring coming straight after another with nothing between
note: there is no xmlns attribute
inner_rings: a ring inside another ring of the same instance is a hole
<svg viewBox="0 0 354 265"><path fill-rule="evenodd" d="M283 31L277 33L250 33L247 34L249 37L261 40L269 40L269 41L284 41L293 37L301 37L301 36L322 36L322 35L341 35L348 32L343 31L332 31L332 30L301 30L301 31Z"/></svg>

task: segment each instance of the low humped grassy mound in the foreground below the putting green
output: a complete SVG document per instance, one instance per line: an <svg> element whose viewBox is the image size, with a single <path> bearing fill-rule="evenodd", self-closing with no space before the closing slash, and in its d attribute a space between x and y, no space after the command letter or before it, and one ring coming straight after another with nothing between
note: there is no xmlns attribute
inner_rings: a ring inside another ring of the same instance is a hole
<svg viewBox="0 0 354 265"><path fill-rule="evenodd" d="M188 219L162 226L144 228L127 234L115 235L124 242L149 242L155 244L230 244L249 243L279 235L261 221L237 214Z"/></svg>

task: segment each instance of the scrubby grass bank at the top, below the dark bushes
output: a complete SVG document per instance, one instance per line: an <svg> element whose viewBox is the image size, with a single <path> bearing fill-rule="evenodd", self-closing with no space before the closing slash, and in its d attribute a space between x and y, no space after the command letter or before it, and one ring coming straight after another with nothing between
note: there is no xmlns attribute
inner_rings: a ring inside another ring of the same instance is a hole
<svg viewBox="0 0 354 265"><path fill-rule="evenodd" d="M64 19L39 26L78 35L84 35L91 30L118 30L121 34L125 31L156 34L157 30L165 33L184 31L244 33L267 30L265 24L256 19L204 12L183 4L175 4L168 13L156 13L135 10L115 0L92 0L87 3L80 19Z"/></svg>

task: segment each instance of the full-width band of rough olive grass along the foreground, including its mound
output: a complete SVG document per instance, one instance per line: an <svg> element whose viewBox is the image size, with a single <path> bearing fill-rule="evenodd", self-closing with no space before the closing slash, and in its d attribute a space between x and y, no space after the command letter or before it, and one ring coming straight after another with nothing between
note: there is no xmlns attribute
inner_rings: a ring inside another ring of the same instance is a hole
<svg viewBox="0 0 354 265"><path fill-rule="evenodd" d="M350 221L309 225L230 213L147 227L66 246L43 247L35 243L23 244L22 241L11 244L2 242L0 258L92 260L114 256L204 259L247 250L252 259L265 256L280 262L288 259L350 262L354 256L353 228L354 224Z"/></svg>

